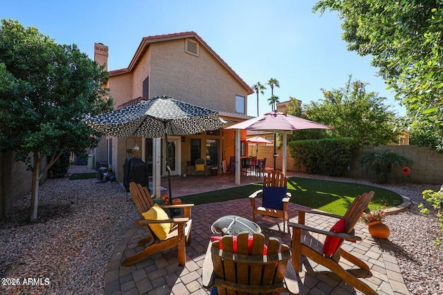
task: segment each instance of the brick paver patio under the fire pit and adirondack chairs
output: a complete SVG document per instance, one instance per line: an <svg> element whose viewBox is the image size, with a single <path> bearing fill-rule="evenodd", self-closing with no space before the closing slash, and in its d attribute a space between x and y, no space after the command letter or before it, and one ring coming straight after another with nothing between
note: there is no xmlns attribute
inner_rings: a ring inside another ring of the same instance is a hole
<svg viewBox="0 0 443 295"><path fill-rule="evenodd" d="M289 218L297 222L293 206L295 205L289 204ZM209 294L208 290L201 286L201 266L211 236L210 225L217 218L226 215L251 219L251 211L251 204L247 198L201 204L192 208L192 242L186 247L185 267L177 265L177 250L154 254L136 265L121 266L123 258L134 254L135 251L141 251L142 248L137 248L136 242L147 234L144 227L132 227L111 256L105 277L105 294ZM325 229L332 227L335 221L324 217L313 219L307 215L307 225ZM282 222L279 218L257 216L257 223L262 227L266 238L279 237L290 245L291 236L282 232ZM390 241L374 240L368 233L367 226L360 222L355 230L356 235L361 236L363 240L356 243L345 242L343 247L365 260L370 266L370 273L356 267L352 272L379 294L410 294L397 260L391 254ZM300 294L361 294L322 265L306 258L302 258L302 263ZM341 263L346 269L352 267L344 259Z"/></svg>

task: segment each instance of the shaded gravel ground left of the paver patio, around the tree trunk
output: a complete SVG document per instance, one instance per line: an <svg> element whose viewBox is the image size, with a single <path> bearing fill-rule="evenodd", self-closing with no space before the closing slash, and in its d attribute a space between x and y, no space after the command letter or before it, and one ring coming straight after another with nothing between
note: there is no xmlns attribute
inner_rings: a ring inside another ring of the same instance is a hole
<svg viewBox="0 0 443 295"><path fill-rule="evenodd" d="M91 169L71 166L83 172ZM39 189L37 222L27 221L29 204L30 195L0 223L0 294L104 294L112 251L138 215L125 189L49 179Z"/></svg>

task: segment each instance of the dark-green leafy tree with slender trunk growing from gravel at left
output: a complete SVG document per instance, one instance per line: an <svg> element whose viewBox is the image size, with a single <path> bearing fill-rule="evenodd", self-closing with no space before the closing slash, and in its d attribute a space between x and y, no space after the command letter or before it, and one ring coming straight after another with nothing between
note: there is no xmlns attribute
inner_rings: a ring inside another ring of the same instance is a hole
<svg viewBox="0 0 443 295"><path fill-rule="evenodd" d="M15 160L33 173L30 221L37 219L44 173L64 151L84 153L98 144L100 134L82 119L112 109L105 82L103 67L77 46L55 44L15 20L1 21L0 151L15 151Z"/></svg>

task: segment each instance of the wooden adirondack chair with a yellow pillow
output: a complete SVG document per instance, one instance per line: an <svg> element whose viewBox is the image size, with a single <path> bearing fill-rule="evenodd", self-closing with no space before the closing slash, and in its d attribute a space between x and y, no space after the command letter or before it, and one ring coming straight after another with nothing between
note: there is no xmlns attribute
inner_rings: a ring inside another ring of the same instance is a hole
<svg viewBox="0 0 443 295"><path fill-rule="evenodd" d="M147 187L142 187L141 184L135 182L129 183L129 191L132 195L132 200L136 204L137 210L140 214L147 212L154 206L154 200L151 198L151 194ZM191 236L191 208L194 204L175 204L175 205L163 205L163 209L177 209L183 208L183 215L185 217L170 218L168 220L138 220L134 221L136 225L145 225L149 236L142 238L138 241L138 246L145 246L145 249L133 256L129 256L123 260L122 265L134 265L141 260L145 259L159 251L166 249L172 249L177 247L178 254L177 260L180 266L186 264L186 243L190 242ZM174 227L170 229L168 236L161 240L152 230L152 225L161 225L174 222Z"/></svg>

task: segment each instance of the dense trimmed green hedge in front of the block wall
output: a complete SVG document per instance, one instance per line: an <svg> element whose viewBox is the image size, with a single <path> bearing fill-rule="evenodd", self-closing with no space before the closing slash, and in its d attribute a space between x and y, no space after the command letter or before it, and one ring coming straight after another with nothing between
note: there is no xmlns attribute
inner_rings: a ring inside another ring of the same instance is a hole
<svg viewBox="0 0 443 295"><path fill-rule="evenodd" d="M305 165L307 173L341 176L350 164L359 145L350 137L289 142L289 151L296 163Z"/></svg>

